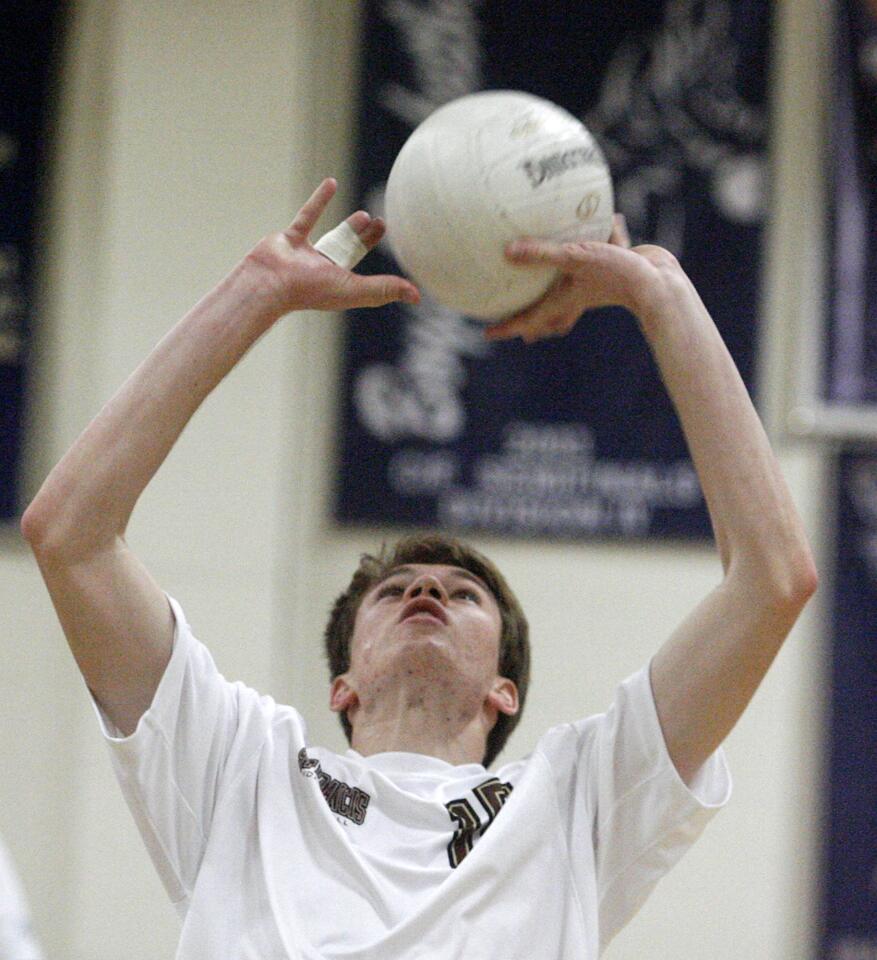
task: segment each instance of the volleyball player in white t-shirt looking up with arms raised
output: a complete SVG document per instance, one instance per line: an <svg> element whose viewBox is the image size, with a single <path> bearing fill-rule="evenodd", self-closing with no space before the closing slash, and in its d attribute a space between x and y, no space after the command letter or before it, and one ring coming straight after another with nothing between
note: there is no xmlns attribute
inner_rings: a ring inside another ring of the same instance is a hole
<svg viewBox="0 0 877 960"><path fill-rule="evenodd" d="M295 709L220 676L125 529L189 418L283 316L417 301L407 281L358 276L312 246L334 190L325 181L170 331L50 474L24 534L182 919L180 958L596 957L727 799L720 745L815 589L801 522L669 253L620 235L513 245L521 269L561 279L488 335L532 342L591 307L634 313L723 579L605 713L571 717L490 772L526 692L526 619L476 551L406 541L362 562L327 628L351 748L311 743ZM382 231L358 212L336 239L364 251Z"/></svg>

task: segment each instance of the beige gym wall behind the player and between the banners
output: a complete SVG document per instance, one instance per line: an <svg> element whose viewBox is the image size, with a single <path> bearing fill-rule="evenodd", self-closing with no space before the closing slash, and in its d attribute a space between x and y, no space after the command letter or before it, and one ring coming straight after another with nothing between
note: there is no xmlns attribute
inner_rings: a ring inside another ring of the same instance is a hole
<svg viewBox="0 0 877 960"><path fill-rule="evenodd" d="M782 437L779 410L785 350L808 293L797 251L816 239L821 39L813 27L822 21L818 0L780 6L765 388L784 466L821 543L819 454ZM349 166L355 3L82 0L77 8L43 231L35 479L237 256L284 225L320 176L343 182ZM291 699L312 737L336 747L319 636L352 563L376 539L327 520L338 333L336 318L300 316L260 343L195 417L130 535L220 667ZM531 700L508 755L527 751L549 724L602 709L719 577L702 548L480 545L508 572L534 631ZM70 960L171 956L176 918L14 530L0 537L0 609L0 831L48 952ZM806 956L817 843L817 614L800 624L729 739L733 803L608 956Z"/></svg>

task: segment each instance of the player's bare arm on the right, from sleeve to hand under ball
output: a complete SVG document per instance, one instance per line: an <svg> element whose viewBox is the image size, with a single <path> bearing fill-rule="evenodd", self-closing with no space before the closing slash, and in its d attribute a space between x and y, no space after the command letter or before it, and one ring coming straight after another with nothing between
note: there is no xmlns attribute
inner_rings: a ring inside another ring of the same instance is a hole
<svg viewBox="0 0 877 960"><path fill-rule="evenodd" d="M682 423L724 569L652 661L667 747L685 780L724 740L816 589L806 536L742 379L691 281L659 247L524 241L510 259L561 279L488 336L565 333L583 310L639 320Z"/></svg>

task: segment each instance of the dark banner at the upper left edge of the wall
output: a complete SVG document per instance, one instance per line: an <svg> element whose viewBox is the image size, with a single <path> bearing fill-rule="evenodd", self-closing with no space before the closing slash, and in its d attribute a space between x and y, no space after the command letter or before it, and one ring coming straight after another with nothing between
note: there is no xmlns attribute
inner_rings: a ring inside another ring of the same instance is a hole
<svg viewBox="0 0 877 960"><path fill-rule="evenodd" d="M18 509L58 0L0 3L0 520Z"/></svg>

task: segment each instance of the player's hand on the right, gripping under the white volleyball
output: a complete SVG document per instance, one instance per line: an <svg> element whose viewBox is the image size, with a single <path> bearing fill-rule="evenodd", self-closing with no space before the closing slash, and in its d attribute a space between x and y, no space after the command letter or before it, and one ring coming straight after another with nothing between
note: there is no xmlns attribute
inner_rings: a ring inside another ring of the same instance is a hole
<svg viewBox="0 0 877 960"><path fill-rule="evenodd" d="M608 243L525 238L510 243L506 257L523 269L554 266L559 271L540 300L485 331L488 340L521 337L525 343L564 336L595 307L620 305L636 313L648 288L658 281L660 269L675 262L660 247L631 249L622 214L615 214Z"/></svg>

